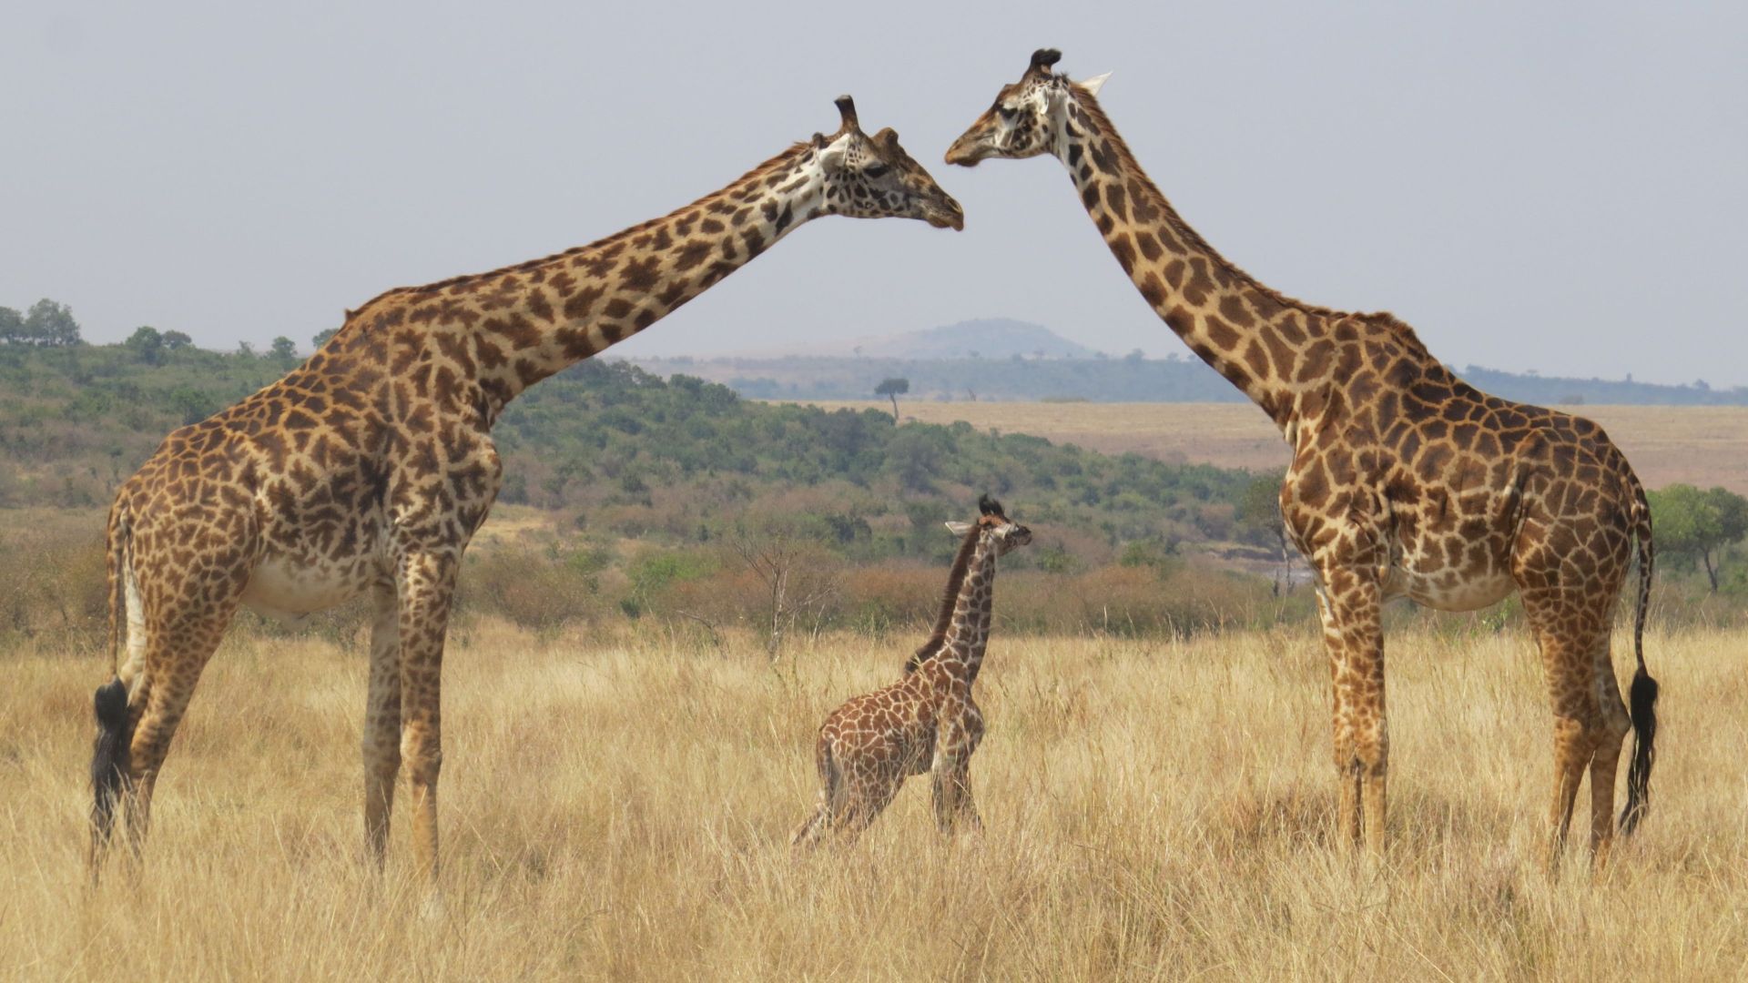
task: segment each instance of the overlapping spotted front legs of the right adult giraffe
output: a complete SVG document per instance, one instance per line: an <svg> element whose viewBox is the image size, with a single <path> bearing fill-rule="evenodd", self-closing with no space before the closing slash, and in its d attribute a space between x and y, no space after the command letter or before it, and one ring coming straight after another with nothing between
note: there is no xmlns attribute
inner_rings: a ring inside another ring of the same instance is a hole
<svg viewBox="0 0 1748 983"><path fill-rule="evenodd" d="M1349 570L1323 575L1318 612L1328 651L1341 831L1355 847L1384 848L1390 735L1384 722L1384 638L1376 579Z"/></svg>

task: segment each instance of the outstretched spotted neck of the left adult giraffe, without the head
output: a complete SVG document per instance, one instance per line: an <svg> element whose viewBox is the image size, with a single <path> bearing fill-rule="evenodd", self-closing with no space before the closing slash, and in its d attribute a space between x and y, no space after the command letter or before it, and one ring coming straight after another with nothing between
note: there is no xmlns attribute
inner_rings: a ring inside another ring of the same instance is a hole
<svg viewBox="0 0 1748 983"><path fill-rule="evenodd" d="M661 219L493 273L390 290L350 322L397 343L423 329L425 343L395 345L397 355L435 348L474 376L495 420L530 385L656 324L834 210L818 149L797 143Z"/></svg>

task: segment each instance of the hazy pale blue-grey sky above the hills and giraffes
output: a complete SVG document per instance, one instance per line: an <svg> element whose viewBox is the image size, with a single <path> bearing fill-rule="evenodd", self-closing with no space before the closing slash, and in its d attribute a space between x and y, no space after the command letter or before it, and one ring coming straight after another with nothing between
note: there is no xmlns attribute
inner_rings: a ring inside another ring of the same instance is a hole
<svg viewBox="0 0 1748 983"><path fill-rule="evenodd" d="M250 10L246 7L260 7ZM1748 383L1748 5L0 5L0 304L229 348L669 212L853 93L965 233L825 219L619 353L1016 317L1180 352L1059 164L947 168L1033 47L1218 250L1435 353Z"/></svg>

